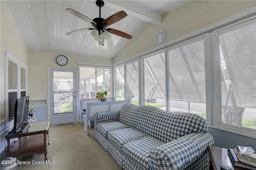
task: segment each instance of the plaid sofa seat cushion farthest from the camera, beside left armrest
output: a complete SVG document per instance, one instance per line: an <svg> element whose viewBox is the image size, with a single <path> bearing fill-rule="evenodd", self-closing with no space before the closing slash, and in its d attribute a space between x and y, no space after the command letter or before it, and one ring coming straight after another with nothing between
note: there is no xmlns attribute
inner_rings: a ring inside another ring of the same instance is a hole
<svg viewBox="0 0 256 170"><path fill-rule="evenodd" d="M105 137L107 137L107 133L112 130L117 130L120 128L127 128L128 126L120 123L118 121L114 122L106 122L106 123L99 123L97 125L97 130L102 133Z"/></svg>

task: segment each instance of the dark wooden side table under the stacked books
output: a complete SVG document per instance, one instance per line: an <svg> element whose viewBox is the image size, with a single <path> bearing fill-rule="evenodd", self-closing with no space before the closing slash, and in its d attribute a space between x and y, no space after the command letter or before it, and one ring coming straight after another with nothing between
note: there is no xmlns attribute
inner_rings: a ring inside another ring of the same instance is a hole
<svg viewBox="0 0 256 170"><path fill-rule="evenodd" d="M215 146L207 146L210 155L210 170L220 170L220 165L229 166L234 170L244 170L237 166L233 166L228 157L228 149Z"/></svg>

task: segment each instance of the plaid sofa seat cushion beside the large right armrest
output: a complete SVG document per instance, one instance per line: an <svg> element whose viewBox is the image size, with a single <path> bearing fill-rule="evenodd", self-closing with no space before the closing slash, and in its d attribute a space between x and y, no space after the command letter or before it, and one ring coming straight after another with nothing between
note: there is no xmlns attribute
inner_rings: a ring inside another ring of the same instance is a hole
<svg viewBox="0 0 256 170"><path fill-rule="evenodd" d="M128 156L128 158L138 164L138 166L146 170L149 169L148 156L150 150L156 146L159 146L160 144L164 144L164 142L151 137L145 137L124 144L122 151L124 155Z"/></svg>

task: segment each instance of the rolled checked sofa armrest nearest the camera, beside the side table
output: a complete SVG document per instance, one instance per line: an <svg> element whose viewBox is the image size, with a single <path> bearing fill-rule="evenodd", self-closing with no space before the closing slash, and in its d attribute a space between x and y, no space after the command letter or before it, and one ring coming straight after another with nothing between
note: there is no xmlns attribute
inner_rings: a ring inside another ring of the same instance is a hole
<svg viewBox="0 0 256 170"><path fill-rule="evenodd" d="M208 132L192 132L157 146L149 153L150 169L182 170L207 152L214 139Z"/></svg>

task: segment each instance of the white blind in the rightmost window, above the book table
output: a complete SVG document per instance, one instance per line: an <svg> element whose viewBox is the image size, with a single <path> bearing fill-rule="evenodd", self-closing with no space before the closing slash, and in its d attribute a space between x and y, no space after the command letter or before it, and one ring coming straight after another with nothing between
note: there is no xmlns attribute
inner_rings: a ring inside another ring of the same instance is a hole
<svg viewBox="0 0 256 170"><path fill-rule="evenodd" d="M221 43L237 105L256 107L256 24L220 34Z"/></svg>

